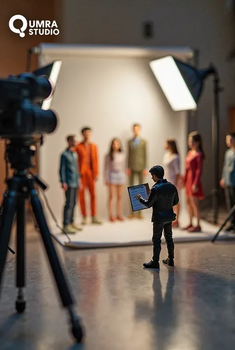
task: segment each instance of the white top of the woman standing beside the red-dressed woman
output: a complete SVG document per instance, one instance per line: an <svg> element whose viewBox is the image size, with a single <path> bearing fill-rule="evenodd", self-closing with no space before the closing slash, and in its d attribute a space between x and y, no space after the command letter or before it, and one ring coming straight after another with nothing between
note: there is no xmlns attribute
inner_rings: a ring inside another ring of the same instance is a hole
<svg viewBox="0 0 235 350"><path fill-rule="evenodd" d="M165 178L175 184L176 175L180 174L179 155L177 153L167 152L163 157Z"/></svg>

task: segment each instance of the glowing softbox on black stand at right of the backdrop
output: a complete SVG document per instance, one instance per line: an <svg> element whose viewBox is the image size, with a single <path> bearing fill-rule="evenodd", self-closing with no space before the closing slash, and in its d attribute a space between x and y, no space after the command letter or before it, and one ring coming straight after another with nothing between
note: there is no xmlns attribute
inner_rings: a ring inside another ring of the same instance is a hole
<svg viewBox="0 0 235 350"><path fill-rule="evenodd" d="M159 82L168 102L175 112L195 111L198 107L204 81L209 75L214 76L214 103L212 113L212 149L213 149L213 211L214 223L218 221L219 213L219 94L223 89L220 86L219 73L214 65L208 69L199 70L172 56L167 56L150 62L150 67Z"/></svg>

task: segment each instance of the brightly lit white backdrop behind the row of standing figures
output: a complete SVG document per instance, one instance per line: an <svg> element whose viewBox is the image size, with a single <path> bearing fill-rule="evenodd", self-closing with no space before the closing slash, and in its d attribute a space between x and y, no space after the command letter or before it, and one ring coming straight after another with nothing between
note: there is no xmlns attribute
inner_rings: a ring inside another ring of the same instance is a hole
<svg viewBox="0 0 235 350"><path fill-rule="evenodd" d="M94 51L94 50L93 50ZM175 138L181 156L181 168L186 152L186 113L175 113L170 108L150 67L149 58L95 56L92 50L86 55L73 50L66 53L58 47L42 50L41 65L60 59L62 66L51 108L57 112L59 126L46 137L40 149L40 176L49 185L49 202L61 219L64 202L59 184L59 158L66 147L65 137L90 126L92 141L99 146L100 178L97 182L98 214L107 218L107 189L104 185L104 156L110 141L117 137L126 149L131 138L133 123L142 125L142 137L148 141L148 166L161 164L164 141ZM157 58L157 50L155 57ZM182 59L182 57L181 57ZM146 179L150 186L150 175ZM127 182L128 183L128 182ZM127 190L124 191L124 213L129 214ZM89 202L87 202L89 203ZM90 206L89 211L90 212Z"/></svg>

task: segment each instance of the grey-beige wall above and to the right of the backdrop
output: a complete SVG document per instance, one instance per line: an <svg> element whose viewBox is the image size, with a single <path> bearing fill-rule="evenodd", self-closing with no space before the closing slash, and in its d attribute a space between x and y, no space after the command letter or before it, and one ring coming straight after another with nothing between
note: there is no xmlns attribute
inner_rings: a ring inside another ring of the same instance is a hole
<svg viewBox="0 0 235 350"><path fill-rule="evenodd" d="M228 107L235 102L234 64L226 57L234 47L233 12L225 0L61 0L62 41L85 44L190 46L200 50L200 67L213 62L219 69L225 91L221 94L221 163L228 129ZM154 22L153 39L142 35L142 22ZM231 70L233 70L231 72ZM189 130L201 132L208 154L204 184L212 188L211 109L212 78L201 99L198 122Z"/></svg>

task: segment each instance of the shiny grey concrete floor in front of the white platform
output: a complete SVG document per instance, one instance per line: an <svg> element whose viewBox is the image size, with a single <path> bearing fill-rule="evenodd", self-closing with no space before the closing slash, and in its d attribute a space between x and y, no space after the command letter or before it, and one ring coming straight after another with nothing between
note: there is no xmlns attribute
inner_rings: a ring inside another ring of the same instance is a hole
<svg viewBox="0 0 235 350"><path fill-rule="evenodd" d="M13 245L13 244L12 244ZM14 247L14 245L13 245ZM151 246L63 251L86 328L73 343L37 234L27 237L27 310L14 314L15 258L0 300L0 350L234 350L235 243L176 245L176 267L143 270ZM163 246L162 258L166 256Z"/></svg>

